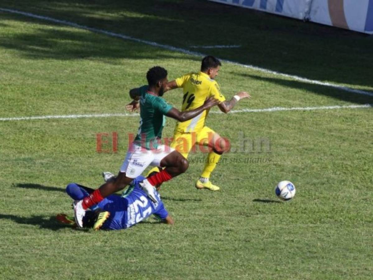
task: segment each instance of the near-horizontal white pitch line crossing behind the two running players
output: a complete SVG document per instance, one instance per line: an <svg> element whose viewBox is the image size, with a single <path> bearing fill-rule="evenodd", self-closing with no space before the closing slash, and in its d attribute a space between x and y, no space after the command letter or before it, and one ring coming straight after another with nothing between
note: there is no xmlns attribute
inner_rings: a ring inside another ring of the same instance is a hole
<svg viewBox="0 0 373 280"><path fill-rule="evenodd" d="M257 112L275 112L275 111L310 111L310 110L333 110L333 109L348 109L348 108L371 108L373 104L365 105L345 105L345 106L321 106L321 107L293 107L283 108L274 107L266 109L241 109L232 110L230 114L236 113L257 113ZM211 114L222 114L221 111L210 111ZM78 118L98 118L98 117L136 117L140 116L138 113L126 114L126 113L115 113L115 114L88 114L88 115L57 115L57 116L34 116L34 117L7 117L0 118L0 121L14 121L14 120L46 120L46 119L78 119Z"/></svg>

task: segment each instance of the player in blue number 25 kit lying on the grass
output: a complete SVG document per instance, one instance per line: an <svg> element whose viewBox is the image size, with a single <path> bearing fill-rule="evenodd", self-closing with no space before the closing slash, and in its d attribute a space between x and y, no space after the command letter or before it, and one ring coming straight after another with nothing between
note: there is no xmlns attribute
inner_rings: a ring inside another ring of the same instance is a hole
<svg viewBox="0 0 373 280"><path fill-rule="evenodd" d="M172 217L164 208L158 192L157 201L153 202L142 190L139 183L145 177L136 177L128 189L122 195L109 195L97 204L91 211L87 211L83 219L84 227L98 229L126 229L140 221L155 215L167 224L174 224ZM87 188L76 183L70 183L66 187L66 192L73 200L81 200L90 195L94 189ZM74 224L74 220L69 219L65 214L57 215L57 220L62 223Z"/></svg>

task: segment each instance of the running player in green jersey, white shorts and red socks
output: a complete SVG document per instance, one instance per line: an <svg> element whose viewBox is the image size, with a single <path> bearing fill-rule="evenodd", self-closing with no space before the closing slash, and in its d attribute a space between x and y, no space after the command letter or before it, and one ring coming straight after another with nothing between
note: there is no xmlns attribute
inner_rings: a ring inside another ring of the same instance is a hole
<svg viewBox="0 0 373 280"><path fill-rule="evenodd" d="M130 144L125 160L118 176L110 182L96 189L89 196L74 202L75 221L79 227L83 226L83 217L89 207L93 207L108 195L123 189L139 176L147 166L159 166L164 169L141 183L153 203L157 202L154 186L170 180L184 173L188 169L188 161L178 151L166 145L160 145L165 116L172 117L179 122L185 122L198 116L204 110L219 104L219 100L210 97L198 108L181 112L166 103L162 98L167 85L166 69L155 66L147 72L148 85L134 88L129 95L135 104L140 100L140 128L138 134Z"/></svg>

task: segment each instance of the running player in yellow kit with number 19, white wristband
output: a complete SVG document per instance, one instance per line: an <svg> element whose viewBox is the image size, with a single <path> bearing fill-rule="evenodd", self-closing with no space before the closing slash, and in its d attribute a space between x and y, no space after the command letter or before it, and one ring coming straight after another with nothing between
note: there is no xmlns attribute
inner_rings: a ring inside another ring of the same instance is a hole
<svg viewBox="0 0 373 280"><path fill-rule="evenodd" d="M226 101L225 97L220 92L219 85L214 80L218 75L221 63L213 56L206 56L202 59L201 71L197 73L188 73L180 78L168 82L165 90L183 88L183 103L181 111L188 111L201 106L206 98L213 96L218 99L220 110L228 113L235 104L243 98L251 98L251 96L244 91L238 92L231 100ZM203 111L198 116L186 122L178 122L175 127L173 141L170 147L179 151L185 158L188 157L189 151L195 144L207 145L209 154L207 156L206 164L200 179L195 183L197 189L209 189L211 191L218 191L220 188L213 185L209 178L211 172L216 167L220 156L226 151L227 144L220 135L211 128L204 125L209 110ZM205 140L205 141L204 141ZM150 170L158 172L156 168Z"/></svg>

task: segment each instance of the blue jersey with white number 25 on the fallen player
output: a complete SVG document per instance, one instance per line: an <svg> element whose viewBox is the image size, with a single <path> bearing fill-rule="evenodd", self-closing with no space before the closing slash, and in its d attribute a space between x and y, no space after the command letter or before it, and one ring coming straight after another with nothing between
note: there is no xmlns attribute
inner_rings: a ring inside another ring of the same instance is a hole
<svg viewBox="0 0 373 280"><path fill-rule="evenodd" d="M164 220L168 213L164 208L158 192L154 190L157 202L154 203L147 194L135 184L129 186L122 196L109 195L98 203L98 207L110 212L110 217L101 229L126 229L146 219L151 214Z"/></svg>

